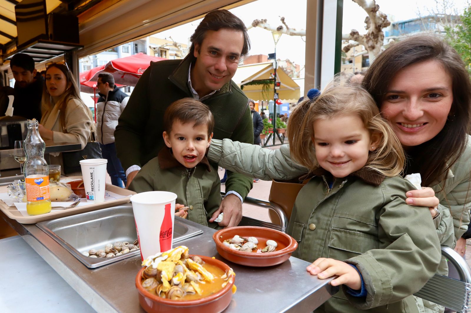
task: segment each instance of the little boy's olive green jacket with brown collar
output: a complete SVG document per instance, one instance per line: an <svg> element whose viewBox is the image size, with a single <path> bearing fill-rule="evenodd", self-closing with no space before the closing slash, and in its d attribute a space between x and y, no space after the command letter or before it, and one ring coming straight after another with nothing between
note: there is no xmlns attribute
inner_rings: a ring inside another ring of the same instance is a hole
<svg viewBox="0 0 471 313"><path fill-rule="evenodd" d="M168 148L163 148L134 177L129 189L136 193L154 190L176 193L176 203L193 206L187 219L211 228L219 226L208 223L221 203L221 184L218 171L206 158L193 169L187 169L172 157Z"/></svg>

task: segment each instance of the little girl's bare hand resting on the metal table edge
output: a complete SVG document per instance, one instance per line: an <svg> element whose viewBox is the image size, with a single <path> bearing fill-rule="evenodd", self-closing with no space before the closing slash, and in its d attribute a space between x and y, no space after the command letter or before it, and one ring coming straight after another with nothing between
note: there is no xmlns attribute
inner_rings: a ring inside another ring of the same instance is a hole
<svg viewBox="0 0 471 313"><path fill-rule="evenodd" d="M361 289L360 274L353 266L345 262L320 257L306 269L320 279L338 275L339 277L330 282L332 286L347 285L353 290Z"/></svg>

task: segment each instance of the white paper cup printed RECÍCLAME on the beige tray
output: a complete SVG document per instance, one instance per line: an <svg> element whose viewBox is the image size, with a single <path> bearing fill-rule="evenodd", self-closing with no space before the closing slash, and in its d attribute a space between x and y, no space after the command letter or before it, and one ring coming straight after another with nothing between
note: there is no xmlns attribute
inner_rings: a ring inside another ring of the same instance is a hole
<svg viewBox="0 0 471 313"><path fill-rule="evenodd" d="M87 202L105 201L106 159L80 160Z"/></svg>

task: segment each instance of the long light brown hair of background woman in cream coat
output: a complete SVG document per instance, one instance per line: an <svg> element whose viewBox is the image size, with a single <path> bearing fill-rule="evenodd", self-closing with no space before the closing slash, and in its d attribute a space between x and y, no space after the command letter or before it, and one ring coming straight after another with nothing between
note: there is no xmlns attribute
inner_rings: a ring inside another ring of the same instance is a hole
<svg viewBox="0 0 471 313"><path fill-rule="evenodd" d="M52 102L52 97L49 95L48 89L46 87L46 80L44 80L44 88L42 92L42 105L41 105L41 111L42 111L42 117L44 117L46 114L49 114L52 109L54 108L54 105L58 105L58 109L60 110L59 113L59 121L61 124L62 128L65 128L65 107L67 106L67 103L69 102L70 99L77 99L80 101L85 107L86 105L83 103L81 97L80 97L80 91L79 88L77 87L77 83L73 79L72 73L69 71L69 68L65 64L60 64L60 63L52 63L48 66L46 69L46 74L48 73L49 69L52 67L56 67L59 69L61 72L64 73L65 75L65 82L66 82L66 87L64 93L59 96L57 99L56 104ZM91 111L87 110L90 121L93 120ZM41 118L42 120L42 118ZM94 125L92 123L92 125Z"/></svg>

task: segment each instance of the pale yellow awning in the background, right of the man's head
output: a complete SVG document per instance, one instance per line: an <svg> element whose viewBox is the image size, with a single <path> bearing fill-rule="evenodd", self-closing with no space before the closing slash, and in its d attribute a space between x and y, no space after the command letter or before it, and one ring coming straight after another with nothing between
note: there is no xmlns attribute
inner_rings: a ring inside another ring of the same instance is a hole
<svg viewBox="0 0 471 313"><path fill-rule="evenodd" d="M273 100L274 90L271 85L267 93L262 92L261 85L245 85L252 80L268 80L273 78L274 68L273 62L264 62L256 64L240 65L237 67L232 80L239 86L243 86L242 91L246 96L255 100ZM278 81L281 82L280 89L277 89L278 98L280 99L298 99L300 97L299 85L289 77L282 68L278 67L276 71Z"/></svg>

